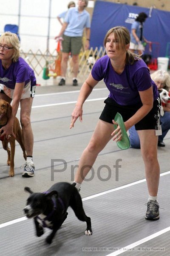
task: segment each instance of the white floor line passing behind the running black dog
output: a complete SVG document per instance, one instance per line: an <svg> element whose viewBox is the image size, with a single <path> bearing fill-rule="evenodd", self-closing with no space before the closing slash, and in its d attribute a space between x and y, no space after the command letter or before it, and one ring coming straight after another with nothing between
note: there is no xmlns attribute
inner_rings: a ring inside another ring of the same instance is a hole
<svg viewBox="0 0 170 256"><path fill-rule="evenodd" d="M170 174L170 171L169 172L161 173L160 176L164 176L164 175L168 175L168 174ZM128 188L130 186L134 186L136 184L139 184L139 183L142 183L142 182L145 182L145 181L146 181L146 179L138 180L136 182L129 183L129 184L125 185L125 186L120 186L120 187L115 188L115 189L110 189L108 191L101 192L101 193L98 193L96 195L91 195L91 196L88 196L86 198L82 198L82 201L87 201L87 200L90 200L92 198L96 198L96 197L101 196L101 195L105 195L105 194L108 194L108 193L111 193L111 192L114 192L114 191L117 191L117 190L120 190L120 189L125 189L125 188ZM7 227L9 225L15 224L15 223L20 222L20 221L25 221L26 219L27 219L26 217L22 217L22 218L17 218L17 219L15 219L13 221L8 221L8 222L5 222L5 223L2 223L2 224L0 224L0 228ZM159 231L159 232L161 232L161 231Z"/></svg>

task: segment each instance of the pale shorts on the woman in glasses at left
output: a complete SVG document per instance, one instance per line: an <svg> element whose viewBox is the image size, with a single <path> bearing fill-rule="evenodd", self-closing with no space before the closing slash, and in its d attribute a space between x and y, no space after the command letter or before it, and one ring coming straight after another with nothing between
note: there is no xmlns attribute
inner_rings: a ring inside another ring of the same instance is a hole
<svg viewBox="0 0 170 256"><path fill-rule="evenodd" d="M21 99L34 98L36 85L31 87L31 82L26 84L23 89ZM0 84L0 93L5 93L9 98L13 99L14 89L6 87L4 84Z"/></svg>

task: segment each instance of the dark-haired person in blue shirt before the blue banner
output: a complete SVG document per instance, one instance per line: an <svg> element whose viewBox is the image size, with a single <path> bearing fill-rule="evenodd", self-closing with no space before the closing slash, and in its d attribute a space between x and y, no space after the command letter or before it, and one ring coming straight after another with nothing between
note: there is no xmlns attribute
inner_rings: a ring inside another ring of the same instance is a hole
<svg viewBox="0 0 170 256"><path fill-rule="evenodd" d="M130 31L130 51L137 52L139 55L143 54L144 46L143 43L149 43L144 38L144 22L147 18L147 14L140 12L136 20L132 23Z"/></svg>

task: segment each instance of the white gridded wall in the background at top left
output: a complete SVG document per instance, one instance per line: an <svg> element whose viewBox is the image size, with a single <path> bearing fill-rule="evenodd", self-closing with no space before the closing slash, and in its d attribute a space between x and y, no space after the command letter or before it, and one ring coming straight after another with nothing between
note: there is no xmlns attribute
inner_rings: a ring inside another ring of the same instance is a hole
<svg viewBox="0 0 170 256"><path fill-rule="evenodd" d="M0 0L0 34L6 24L19 25L21 49L24 52L40 49L45 52L49 45L50 52L56 48L54 37L61 25L57 15L67 10L69 0ZM77 5L78 0L74 0ZM91 6L89 1L89 5ZM49 7L51 3L51 12ZM49 28L49 41L48 41Z"/></svg>

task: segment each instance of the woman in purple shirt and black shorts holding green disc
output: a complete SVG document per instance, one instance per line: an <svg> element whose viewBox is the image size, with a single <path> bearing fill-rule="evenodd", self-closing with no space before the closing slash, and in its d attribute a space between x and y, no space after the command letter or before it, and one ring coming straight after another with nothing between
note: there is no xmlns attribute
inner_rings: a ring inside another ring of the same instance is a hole
<svg viewBox="0 0 170 256"><path fill-rule="evenodd" d="M96 84L104 79L108 90L105 108L92 138L79 161L74 186L80 189L85 176L93 166L97 155L112 139L122 138L119 125L114 131L114 117L119 112L124 120L126 131L135 125L138 131L141 152L145 165L146 180L149 192L146 219L159 219L157 193L159 187L159 163L157 159L158 137L155 126L160 122L160 99L156 84L150 78L144 61L129 51L130 34L122 26L108 31L104 40L106 53L94 64L88 79L82 84L76 107L72 113L70 128L79 118L82 122L82 105Z"/></svg>

